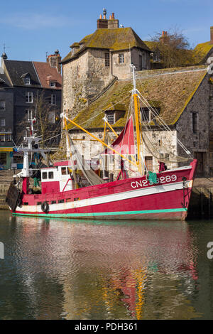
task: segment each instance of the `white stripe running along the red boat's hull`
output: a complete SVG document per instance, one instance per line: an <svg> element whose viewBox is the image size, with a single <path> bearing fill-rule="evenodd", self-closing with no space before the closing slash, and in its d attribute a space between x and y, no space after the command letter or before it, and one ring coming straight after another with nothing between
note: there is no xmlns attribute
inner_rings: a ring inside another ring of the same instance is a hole
<svg viewBox="0 0 213 334"><path fill-rule="evenodd" d="M185 187L192 188L192 181L185 182ZM147 195L153 195L157 193L167 193L169 191L181 190L182 182L168 183L165 185L153 185L149 188L138 188L135 190L126 191L124 193L116 193L111 195L104 195L95 198L87 198L85 200L78 200L75 202L49 204L50 212L59 210L69 210L75 208L84 208L91 205L99 205L104 203L111 203L121 200L127 200L130 198L138 198ZM40 205L23 205L22 208L17 207L17 211L20 212L41 212Z"/></svg>

